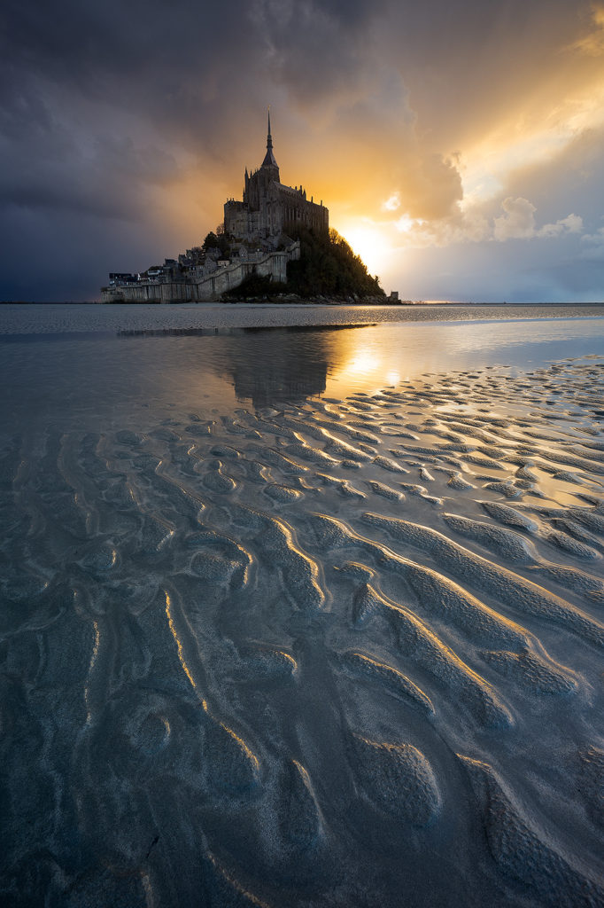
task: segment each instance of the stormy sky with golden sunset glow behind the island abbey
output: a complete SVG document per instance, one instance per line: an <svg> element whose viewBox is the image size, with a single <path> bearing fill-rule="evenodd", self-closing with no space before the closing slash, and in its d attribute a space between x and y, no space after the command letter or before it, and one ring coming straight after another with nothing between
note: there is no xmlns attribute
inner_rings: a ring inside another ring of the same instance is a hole
<svg viewBox="0 0 604 908"><path fill-rule="evenodd" d="M0 300L199 245L262 163L403 299L604 299L604 0L4 0Z"/></svg>

